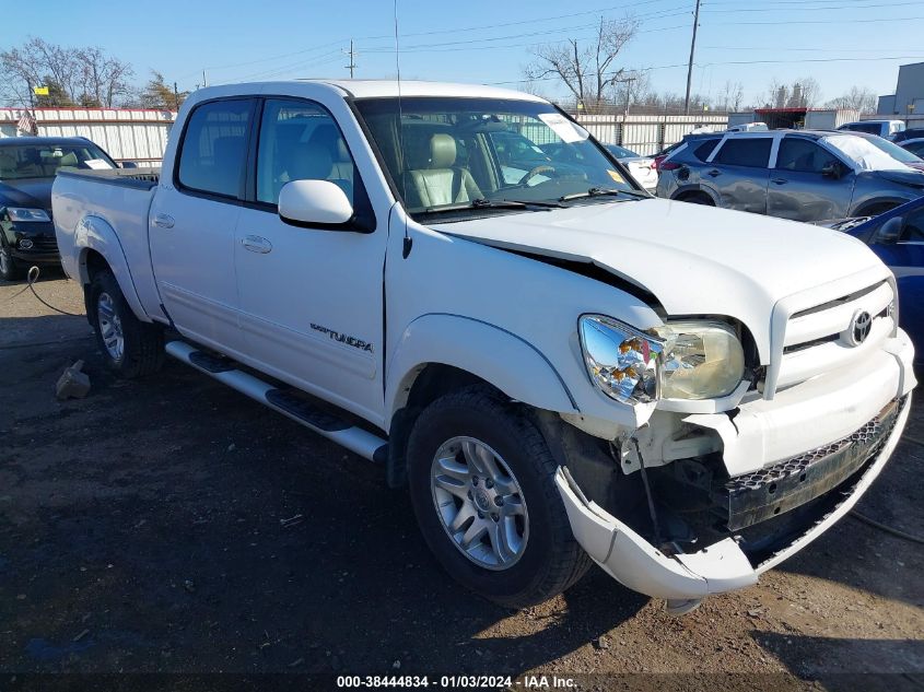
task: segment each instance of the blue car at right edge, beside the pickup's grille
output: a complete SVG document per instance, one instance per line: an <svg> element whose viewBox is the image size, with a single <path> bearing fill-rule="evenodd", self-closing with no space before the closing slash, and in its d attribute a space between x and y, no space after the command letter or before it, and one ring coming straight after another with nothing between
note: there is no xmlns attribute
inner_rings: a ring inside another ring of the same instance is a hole
<svg viewBox="0 0 924 692"><path fill-rule="evenodd" d="M859 223L842 222L839 226L866 243L896 274L899 322L914 342L914 360L924 362L924 197Z"/></svg>

